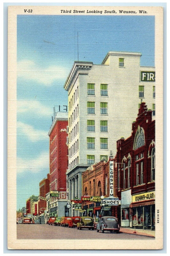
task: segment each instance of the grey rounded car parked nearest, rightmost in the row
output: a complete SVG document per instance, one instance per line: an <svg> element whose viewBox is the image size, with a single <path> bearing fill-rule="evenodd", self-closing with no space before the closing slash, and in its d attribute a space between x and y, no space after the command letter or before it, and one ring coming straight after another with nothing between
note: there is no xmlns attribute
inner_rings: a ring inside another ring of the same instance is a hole
<svg viewBox="0 0 170 256"><path fill-rule="evenodd" d="M118 233L120 230L120 226L118 224L118 219L116 217L103 216L97 223L96 229L97 229L97 232L99 232L99 230L101 230L102 233L104 233L105 230L108 230L111 233L113 231L116 231L116 233Z"/></svg>

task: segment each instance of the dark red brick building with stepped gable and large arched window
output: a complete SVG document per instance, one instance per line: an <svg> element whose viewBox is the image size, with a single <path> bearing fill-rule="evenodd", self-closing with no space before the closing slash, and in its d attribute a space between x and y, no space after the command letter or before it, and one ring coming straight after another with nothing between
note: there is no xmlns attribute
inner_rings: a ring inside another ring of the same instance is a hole
<svg viewBox="0 0 170 256"><path fill-rule="evenodd" d="M121 226L155 227L155 120L141 103L129 138L117 141L114 159Z"/></svg>

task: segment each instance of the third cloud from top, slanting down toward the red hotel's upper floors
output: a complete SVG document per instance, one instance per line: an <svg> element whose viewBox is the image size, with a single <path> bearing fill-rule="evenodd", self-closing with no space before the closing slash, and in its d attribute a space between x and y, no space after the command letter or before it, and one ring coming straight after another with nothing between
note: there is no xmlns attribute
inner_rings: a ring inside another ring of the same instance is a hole
<svg viewBox="0 0 170 256"><path fill-rule="evenodd" d="M46 140L48 134L46 131L35 130L31 125L17 122L18 133L23 133L31 142Z"/></svg>

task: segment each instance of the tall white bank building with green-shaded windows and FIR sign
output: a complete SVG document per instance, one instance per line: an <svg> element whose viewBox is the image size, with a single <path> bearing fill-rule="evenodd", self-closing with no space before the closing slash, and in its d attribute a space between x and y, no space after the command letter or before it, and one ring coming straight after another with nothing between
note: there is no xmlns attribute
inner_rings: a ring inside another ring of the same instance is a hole
<svg viewBox="0 0 170 256"><path fill-rule="evenodd" d="M88 166L116 154L116 141L131 134L141 101L155 115L155 67L140 66L141 53L109 52L101 65L75 61L68 91L69 199L82 196Z"/></svg>

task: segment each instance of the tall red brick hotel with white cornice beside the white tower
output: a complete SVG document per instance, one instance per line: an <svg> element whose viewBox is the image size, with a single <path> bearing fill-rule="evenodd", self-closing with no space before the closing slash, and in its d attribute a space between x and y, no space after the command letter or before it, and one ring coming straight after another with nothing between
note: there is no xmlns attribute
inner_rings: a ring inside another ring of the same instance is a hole
<svg viewBox="0 0 170 256"><path fill-rule="evenodd" d="M50 155L50 217L65 216L67 204L68 146L67 146L68 113L57 112L49 129Z"/></svg>

